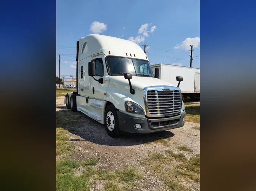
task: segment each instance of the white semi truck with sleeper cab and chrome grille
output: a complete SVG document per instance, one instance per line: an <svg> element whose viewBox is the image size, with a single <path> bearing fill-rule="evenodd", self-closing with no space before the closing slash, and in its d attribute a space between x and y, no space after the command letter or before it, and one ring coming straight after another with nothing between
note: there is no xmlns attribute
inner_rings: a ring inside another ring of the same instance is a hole
<svg viewBox="0 0 256 191"><path fill-rule="evenodd" d="M148 57L129 40L90 34L77 42L77 91L67 108L105 125L108 134L146 134L185 123L181 89L153 75ZM182 77L176 77L180 83ZM177 82L176 82L177 83Z"/></svg>

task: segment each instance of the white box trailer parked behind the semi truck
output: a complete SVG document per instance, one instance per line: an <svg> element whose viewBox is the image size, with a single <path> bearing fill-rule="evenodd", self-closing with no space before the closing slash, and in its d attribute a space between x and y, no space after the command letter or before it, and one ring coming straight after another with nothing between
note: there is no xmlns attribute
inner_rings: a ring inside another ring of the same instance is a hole
<svg viewBox="0 0 256 191"><path fill-rule="evenodd" d="M179 88L184 97L200 97L200 69L169 64L151 65L155 74L155 68L159 68L159 79L176 84L176 76L183 77Z"/></svg>

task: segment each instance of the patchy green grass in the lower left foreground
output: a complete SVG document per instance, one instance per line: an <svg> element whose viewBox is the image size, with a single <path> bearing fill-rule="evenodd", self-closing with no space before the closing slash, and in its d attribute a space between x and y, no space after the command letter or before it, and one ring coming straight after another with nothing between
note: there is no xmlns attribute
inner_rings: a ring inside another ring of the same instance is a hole
<svg viewBox="0 0 256 191"><path fill-rule="evenodd" d="M123 170L107 171L93 168L98 163L97 159L85 159L83 161L71 160L67 155L74 146L69 143L66 135L67 130L56 128L56 154L61 156L56 161L57 170L57 191L90 191L93 180L104 180L105 191L130 190L132 186L137 186L137 180L142 177L140 171L133 167L126 167ZM80 172L79 175L76 172Z"/></svg>

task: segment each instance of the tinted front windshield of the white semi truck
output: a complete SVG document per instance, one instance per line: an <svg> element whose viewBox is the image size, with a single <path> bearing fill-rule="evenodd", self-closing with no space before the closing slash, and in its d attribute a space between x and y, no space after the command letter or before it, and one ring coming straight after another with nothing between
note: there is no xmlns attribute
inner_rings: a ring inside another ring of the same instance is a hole
<svg viewBox="0 0 256 191"><path fill-rule="evenodd" d="M111 75L130 73L133 76L153 77L148 60L107 57L107 67Z"/></svg>

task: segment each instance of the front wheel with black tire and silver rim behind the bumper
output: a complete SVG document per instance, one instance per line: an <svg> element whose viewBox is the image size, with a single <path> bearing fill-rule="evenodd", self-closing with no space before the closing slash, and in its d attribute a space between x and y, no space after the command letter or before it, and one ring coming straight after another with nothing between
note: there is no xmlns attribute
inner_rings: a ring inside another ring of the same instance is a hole
<svg viewBox="0 0 256 191"><path fill-rule="evenodd" d="M119 136L119 121L116 108L113 105L107 106L105 110L105 128L110 137Z"/></svg>

